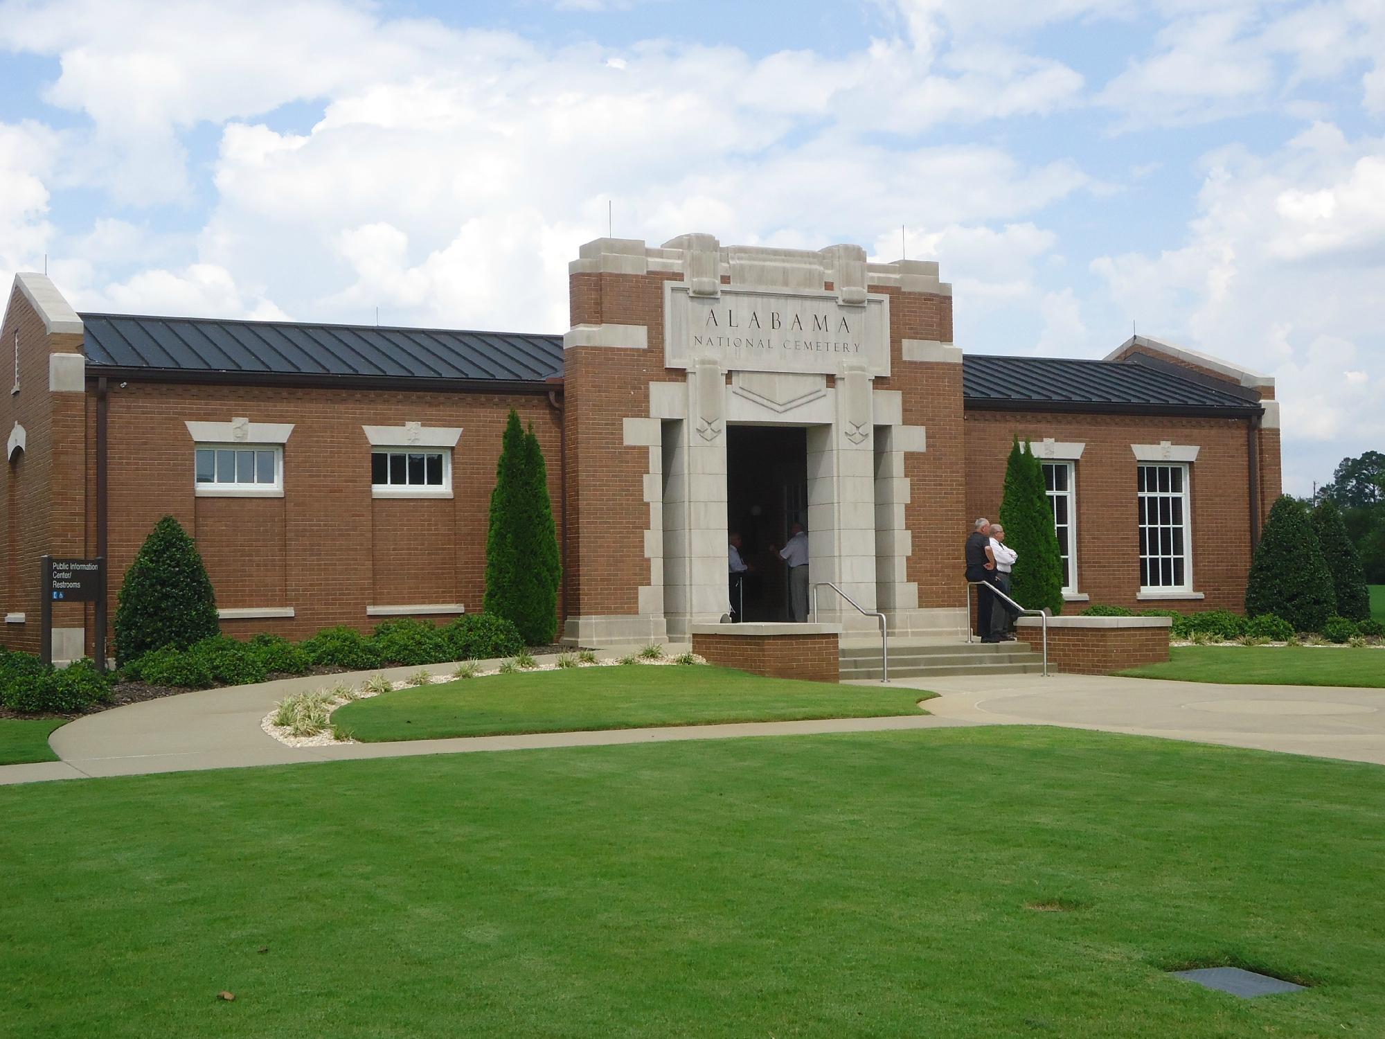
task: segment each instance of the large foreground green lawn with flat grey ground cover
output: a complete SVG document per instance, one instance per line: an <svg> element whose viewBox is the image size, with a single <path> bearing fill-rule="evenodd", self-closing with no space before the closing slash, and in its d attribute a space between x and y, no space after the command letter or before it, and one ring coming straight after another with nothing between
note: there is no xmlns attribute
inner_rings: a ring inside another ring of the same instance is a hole
<svg viewBox="0 0 1385 1039"><path fill-rule="evenodd" d="M1048 727L4 787L0 1035L1378 1036L1382 803Z"/></svg>

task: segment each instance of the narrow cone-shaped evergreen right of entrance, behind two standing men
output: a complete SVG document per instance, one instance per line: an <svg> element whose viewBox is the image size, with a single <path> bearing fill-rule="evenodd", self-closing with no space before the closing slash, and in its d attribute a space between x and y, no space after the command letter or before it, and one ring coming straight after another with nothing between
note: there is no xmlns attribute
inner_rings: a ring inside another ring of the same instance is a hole
<svg viewBox="0 0 1385 1039"><path fill-rule="evenodd" d="M1062 612L1062 556L1053 525L1053 507L1044 492L1043 463L1015 439L1006 465L1006 490L1000 501L1006 544L1019 553L1010 575L1010 597L1026 610L1048 607Z"/></svg>

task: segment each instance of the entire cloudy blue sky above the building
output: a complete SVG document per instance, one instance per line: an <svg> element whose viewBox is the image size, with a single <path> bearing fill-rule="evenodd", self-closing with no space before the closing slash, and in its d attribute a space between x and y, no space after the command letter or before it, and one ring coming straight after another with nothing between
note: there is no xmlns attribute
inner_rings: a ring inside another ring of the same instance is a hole
<svg viewBox="0 0 1385 1039"><path fill-rule="evenodd" d="M1385 4L0 3L0 276L79 309L562 331L605 233L942 265L967 350L1132 326L1385 446Z"/></svg>

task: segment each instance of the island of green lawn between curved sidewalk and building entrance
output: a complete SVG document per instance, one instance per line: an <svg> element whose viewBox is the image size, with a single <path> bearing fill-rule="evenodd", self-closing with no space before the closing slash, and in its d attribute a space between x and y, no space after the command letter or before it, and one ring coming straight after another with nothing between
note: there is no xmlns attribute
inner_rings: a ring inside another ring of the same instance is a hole
<svg viewBox="0 0 1385 1039"><path fill-rule="evenodd" d="M652 725L915 715L911 689L765 679L711 666L575 668L463 679L339 708L332 720L364 743L497 733L564 733Z"/></svg>

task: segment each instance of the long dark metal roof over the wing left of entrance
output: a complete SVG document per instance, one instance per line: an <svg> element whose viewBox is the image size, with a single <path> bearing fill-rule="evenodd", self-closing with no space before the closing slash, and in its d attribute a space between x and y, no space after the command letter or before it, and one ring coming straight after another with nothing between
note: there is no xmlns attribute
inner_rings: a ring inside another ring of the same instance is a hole
<svg viewBox="0 0 1385 1039"><path fill-rule="evenodd" d="M543 382L562 374L562 337L80 314L97 367L198 374Z"/></svg>

